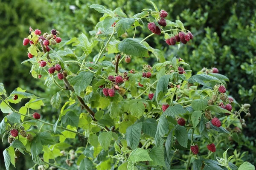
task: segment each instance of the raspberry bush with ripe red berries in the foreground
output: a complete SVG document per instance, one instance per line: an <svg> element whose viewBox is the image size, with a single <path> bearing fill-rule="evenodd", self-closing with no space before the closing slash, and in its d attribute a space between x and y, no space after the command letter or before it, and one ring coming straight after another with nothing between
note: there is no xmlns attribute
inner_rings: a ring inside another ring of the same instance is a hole
<svg viewBox="0 0 256 170"><path fill-rule="evenodd" d="M229 79L217 68L192 75L183 59L165 61L162 51L147 43L148 37L160 36L180 48L196 38L180 20L168 20L168 11L152 4L154 10L132 17L121 8L91 5L104 14L90 38L82 33L78 39L62 40L55 29L42 33L29 28L29 36L20 40L29 45L24 62L32 63L32 77L44 79L46 88L60 89L50 99L60 114L57 120L45 121L44 99L21 88L7 96L0 83L0 109L6 113L0 134L10 143L3 151L7 170L23 154L31 155L31 169L255 169L249 162L236 166L240 158L228 158L227 150L218 150L222 143L239 138L246 126L241 113L249 115L250 105L240 106L227 96ZM136 29L145 26L152 34L136 38ZM127 37L127 32L134 32L134 37ZM58 43L79 46L84 53L55 51ZM87 61L97 44L98 54ZM151 54L160 62L126 69L127 63ZM21 100L28 102L15 110ZM73 147L75 142L80 147Z"/></svg>

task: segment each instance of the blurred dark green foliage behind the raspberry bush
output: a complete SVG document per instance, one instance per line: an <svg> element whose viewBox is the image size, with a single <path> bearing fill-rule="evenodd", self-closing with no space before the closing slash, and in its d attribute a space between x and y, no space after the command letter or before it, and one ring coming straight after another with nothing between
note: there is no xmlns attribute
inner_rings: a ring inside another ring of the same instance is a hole
<svg viewBox="0 0 256 170"><path fill-rule="evenodd" d="M179 19L192 31L195 38L190 45L168 46L163 36L153 36L147 42L154 48L164 51L166 60L177 55L189 63L193 71L203 67L216 67L221 74L230 78L227 86L229 94L239 103L250 103L251 117L246 119L247 128L241 139L244 146L239 151L254 150L247 155L247 161L254 160L256 139L256 1L252 0L153 0L158 8L169 13L169 20ZM44 90L41 81L29 76L29 64L20 63L27 59L27 49L22 45L23 38L29 33L29 26L47 32L57 29L62 40L78 37L81 32L90 37L90 31L99 21L102 14L88 8L91 4L101 4L106 8L122 10L132 16L143 8L151 8L148 1L138 0L2 0L0 5L0 82L3 82L8 93L16 87L27 89L42 98L52 96L56 89ZM150 32L147 27L137 29L137 36L145 37ZM100 47L99 47L100 48ZM73 47L79 54L80 50ZM90 61L96 53L90 55ZM136 59L127 68L140 68L144 63L153 65L155 58ZM44 101L47 106L42 112L46 119L55 119L51 112L57 112L49 105L49 97ZM64 101L64 100L63 100ZM24 103L20 103L20 106ZM0 115L3 118L3 115ZM247 136L245 138L245 136ZM77 139L78 140L78 139ZM5 141L7 143L7 141ZM234 146L236 143L233 144ZM3 152L0 145L0 152ZM254 156L253 156L254 154ZM1 154L0 154L1 155ZM0 167L3 158L0 156ZM22 160L20 160L21 162ZM253 163L254 162L254 163ZM30 162L26 161L26 164ZM23 166L23 165L22 165ZM26 165L25 165L26 166ZM22 167L17 167L22 169ZM28 169L28 168L27 168Z"/></svg>

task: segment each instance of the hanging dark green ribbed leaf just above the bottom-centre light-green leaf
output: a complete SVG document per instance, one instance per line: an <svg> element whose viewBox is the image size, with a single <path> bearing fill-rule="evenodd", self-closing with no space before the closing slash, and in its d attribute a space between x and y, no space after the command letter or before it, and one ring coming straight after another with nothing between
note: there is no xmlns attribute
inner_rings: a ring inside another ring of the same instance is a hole
<svg viewBox="0 0 256 170"><path fill-rule="evenodd" d="M142 129L142 122L135 123L127 128L126 140L127 140L128 146L131 147L131 149L137 148L140 142L141 129Z"/></svg>

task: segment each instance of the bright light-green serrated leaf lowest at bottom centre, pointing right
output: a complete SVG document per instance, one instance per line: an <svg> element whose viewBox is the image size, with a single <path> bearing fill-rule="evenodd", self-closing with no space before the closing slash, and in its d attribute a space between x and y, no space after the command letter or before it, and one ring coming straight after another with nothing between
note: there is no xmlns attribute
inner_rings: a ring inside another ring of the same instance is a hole
<svg viewBox="0 0 256 170"><path fill-rule="evenodd" d="M143 148L136 148L133 150L128 159L134 163L140 161L152 161L148 155L148 151Z"/></svg>

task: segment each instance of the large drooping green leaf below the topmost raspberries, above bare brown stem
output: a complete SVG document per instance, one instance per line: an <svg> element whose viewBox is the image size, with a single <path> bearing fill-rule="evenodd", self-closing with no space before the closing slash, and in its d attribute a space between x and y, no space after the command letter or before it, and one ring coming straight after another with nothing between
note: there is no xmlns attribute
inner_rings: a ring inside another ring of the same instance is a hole
<svg viewBox="0 0 256 170"><path fill-rule="evenodd" d="M134 57L149 57L148 48L140 42L134 41L131 38L125 38L118 44L118 50L124 54Z"/></svg>

